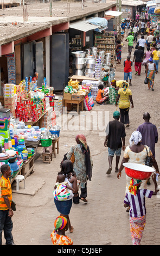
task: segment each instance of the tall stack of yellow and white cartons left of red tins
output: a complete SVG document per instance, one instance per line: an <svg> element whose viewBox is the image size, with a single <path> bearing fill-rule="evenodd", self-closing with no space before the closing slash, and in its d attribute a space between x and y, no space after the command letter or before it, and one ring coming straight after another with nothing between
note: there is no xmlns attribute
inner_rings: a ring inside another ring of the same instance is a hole
<svg viewBox="0 0 160 256"><path fill-rule="evenodd" d="M4 84L4 108L10 109L10 113L15 117L15 99L16 99L16 86L12 83Z"/></svg>

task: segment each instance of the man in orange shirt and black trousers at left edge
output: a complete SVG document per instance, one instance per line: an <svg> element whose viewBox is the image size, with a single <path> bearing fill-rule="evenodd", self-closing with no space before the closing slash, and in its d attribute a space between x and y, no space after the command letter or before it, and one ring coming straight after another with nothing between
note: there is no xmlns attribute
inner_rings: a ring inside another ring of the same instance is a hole
<svg viewBox="0 0 160 256"><path fill-rule="evenodd" d="M11 169L8 164L1 166L2 177L0 179L0 245L2 245L2 231L4 231L4 238L6 245L15 245L12 237L12 220L14 215L11 209L12 190L9 181Z"/></svg>

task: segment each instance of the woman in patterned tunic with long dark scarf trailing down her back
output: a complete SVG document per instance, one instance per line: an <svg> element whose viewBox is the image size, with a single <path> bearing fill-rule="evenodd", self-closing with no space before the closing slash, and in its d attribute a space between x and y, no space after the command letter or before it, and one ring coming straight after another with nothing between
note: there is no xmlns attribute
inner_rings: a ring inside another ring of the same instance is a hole
<svg viewBox="0 0 160 256"><path fill-rule="evenodd" d="M67 159L71 159L74 153L73 170L76 178L80 181L81 194L80 197L79 193L74 194L73 203L79 204L79 199L87 203L87 180L92 178L93 162L86 137L79 134L75 137L75 141L77 144L71 147L71 150L67 153Z"/></svg>

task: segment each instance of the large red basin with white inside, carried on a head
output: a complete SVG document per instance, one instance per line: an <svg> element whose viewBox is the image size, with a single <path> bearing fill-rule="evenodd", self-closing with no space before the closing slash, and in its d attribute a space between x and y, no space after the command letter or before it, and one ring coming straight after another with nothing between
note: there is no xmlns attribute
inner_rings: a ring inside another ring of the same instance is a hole
<svg viewBox="0 0 160 256"><path fill-rule="evenodd" d="M155 169L139 163L123 163L127 176L137 180L147 180Z"/></svg>

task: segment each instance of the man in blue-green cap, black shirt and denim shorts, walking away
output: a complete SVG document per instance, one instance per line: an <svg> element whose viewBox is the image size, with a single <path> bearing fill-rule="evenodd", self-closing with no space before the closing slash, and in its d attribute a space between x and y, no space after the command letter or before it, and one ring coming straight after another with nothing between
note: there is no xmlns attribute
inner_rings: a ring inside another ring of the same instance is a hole
<svg viewBox="0 0 160 256"><path fill-rule="evenodd" d="M112 160L114 154L116 155L116 167L115 172L118 172L118 164L121 155L121 149L125 150L125 127L124 124L119 121L120 112L114 111L113 121L109 121L106 127L106 139L104 146L108 147L108 162L109 168L107 174L111 174L112 170Z"/></svg>

